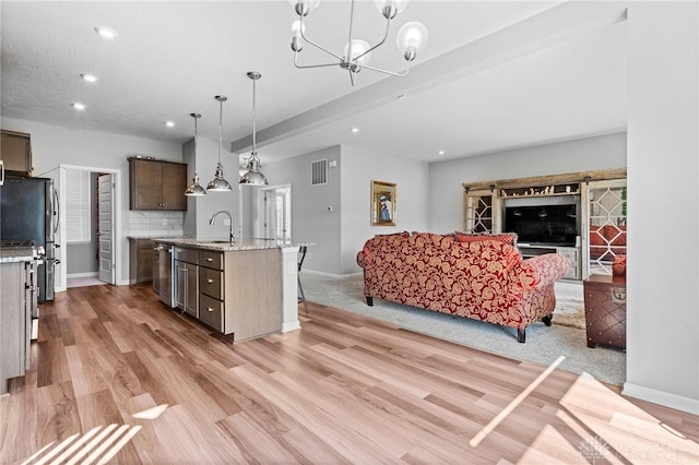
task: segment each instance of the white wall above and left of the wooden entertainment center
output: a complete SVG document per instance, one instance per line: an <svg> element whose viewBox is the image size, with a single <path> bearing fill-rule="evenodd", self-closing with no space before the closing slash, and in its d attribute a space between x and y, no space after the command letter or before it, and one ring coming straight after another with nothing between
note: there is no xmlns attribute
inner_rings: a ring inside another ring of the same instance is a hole
<svg viewBox="0 0 699 465"><path fill-rule="evenodd" d="M626 133L600 135L429 165L429 227L463 229L462 182L626 167Z"/></svg>

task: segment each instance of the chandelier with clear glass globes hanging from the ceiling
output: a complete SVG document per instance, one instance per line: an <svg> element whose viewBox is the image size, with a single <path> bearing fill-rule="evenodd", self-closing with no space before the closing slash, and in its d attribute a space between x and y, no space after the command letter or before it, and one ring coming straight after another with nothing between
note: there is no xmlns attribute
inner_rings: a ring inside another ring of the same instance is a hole
<svg viewBox="0 0 699 465"><path fill-rule="evenodd" d="M294 65L299 69L340 65L340 68L350 71L350 81L352 82L352 85L355 84L356 74L364 68L402 78L410 72L411 62L415 60L417 53L422 52L427 46L427 28L422 23L415 21L405 23L399 29L395 43L399 50L403 53L403 58L407 61L407 69L403 72L393 72L369 65L371 51L386 43L389 35L389 28L391 26L391 20L405 9L408 0L374 0L379 12L383 17L386 17L386 33L383 34L383 38L374 46L369 45L366 40L358 39L353 36L354 8L356 0L352 0L350 10L350 38L345 45L343 55L334 53L333 51L330 51L310 40L306 36L306 24L304 24L304 17L318 7L320 0L288 0L288 2L294 7L296 14L298 14L298 21L295 21L292 25L292 32L294 34L292 38L292 50L294 50ZM304 49L304 43L310 44L325 53L335 57L337 61L320 64L298 64L298 53Z"/></svg>

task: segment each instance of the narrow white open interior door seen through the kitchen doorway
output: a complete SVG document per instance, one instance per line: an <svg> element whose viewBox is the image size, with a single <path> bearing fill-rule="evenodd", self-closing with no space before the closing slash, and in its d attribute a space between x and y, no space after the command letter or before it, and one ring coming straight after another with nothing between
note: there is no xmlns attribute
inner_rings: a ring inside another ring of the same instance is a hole
<svg viewBox="0 0 699 465"><path fill-rule="evenodd" d="M112 175L100 175L97 182L98 196L98 226L97 237L99 240L99 281L107 284L115 284L114 266L114 179Z"/></svg>

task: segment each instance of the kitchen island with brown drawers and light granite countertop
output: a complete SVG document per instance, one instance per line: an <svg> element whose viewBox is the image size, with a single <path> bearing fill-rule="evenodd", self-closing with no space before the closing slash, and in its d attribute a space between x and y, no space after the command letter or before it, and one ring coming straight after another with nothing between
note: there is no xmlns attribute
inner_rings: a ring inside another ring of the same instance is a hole
<svg viewBox="0 0 699 465"><path fill-rule="evenodd" d="M265 239L153 238L153 287L170 308L234 343L300 327L297 253Z"/></svg>

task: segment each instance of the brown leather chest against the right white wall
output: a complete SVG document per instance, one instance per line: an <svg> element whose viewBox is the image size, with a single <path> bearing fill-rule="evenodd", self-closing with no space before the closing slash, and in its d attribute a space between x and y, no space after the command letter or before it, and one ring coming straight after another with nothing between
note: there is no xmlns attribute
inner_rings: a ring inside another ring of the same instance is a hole
<svg viewBox="0 0 699 465"><path fill-rule="evenodd" d="M626 277L593 274L582 285L588 347L626 349Z"/></svg>

